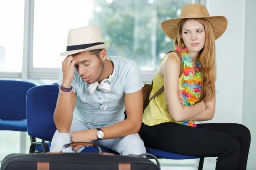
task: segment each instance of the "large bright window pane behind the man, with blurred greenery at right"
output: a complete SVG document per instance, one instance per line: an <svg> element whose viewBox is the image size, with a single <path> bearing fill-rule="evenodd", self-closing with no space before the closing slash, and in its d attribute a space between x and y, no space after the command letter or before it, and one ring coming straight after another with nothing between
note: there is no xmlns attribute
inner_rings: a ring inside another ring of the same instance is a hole
<svg viewBox="0 0 256 170"><path fill-rule="evenodd" d="M96 25L105 42L111 42L108 55L135 60L142 75L150 73L144 81L151 81L163 56L173 49L160 24L179 17L187 3L193 0L35 1L32 68L61 68L68 30Z"/></svg>

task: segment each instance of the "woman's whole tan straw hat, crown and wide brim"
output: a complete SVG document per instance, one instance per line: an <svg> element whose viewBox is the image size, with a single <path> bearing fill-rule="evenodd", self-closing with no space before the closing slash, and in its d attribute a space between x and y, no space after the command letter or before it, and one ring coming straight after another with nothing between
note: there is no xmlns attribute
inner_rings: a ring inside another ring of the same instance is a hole
<svg viewBox="0 0 256 170"><path fill-rule="evenodd" d="M227 18L224 16L210 16L205 6L193 3L182 8L179 18L164 20L161 23L163 32L172 40L177 38L178 25L181 20L186 18L204 18L212 26L215 40L217 40L227 29Z"/></svg>

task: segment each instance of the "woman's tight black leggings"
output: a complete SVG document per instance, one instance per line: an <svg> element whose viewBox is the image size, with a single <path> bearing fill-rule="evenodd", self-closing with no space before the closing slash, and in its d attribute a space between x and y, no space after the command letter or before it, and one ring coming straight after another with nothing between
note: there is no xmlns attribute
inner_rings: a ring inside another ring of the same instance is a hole
<svg viewBox="0 0 256 170"><path fill-rule="evenodd" d="M250 131L235 123L205 123L197 127L173 122L148 126L140 137L146 147L182 155L218 157L216 170L246 170Z"/></svg>

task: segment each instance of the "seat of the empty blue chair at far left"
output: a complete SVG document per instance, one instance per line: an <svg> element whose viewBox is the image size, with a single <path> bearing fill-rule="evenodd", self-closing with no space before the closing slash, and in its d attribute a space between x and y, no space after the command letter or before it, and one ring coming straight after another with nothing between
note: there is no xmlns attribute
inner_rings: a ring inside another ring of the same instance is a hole
<svg viewBox="0 0 256 170"><path fill-rule="evenodd" d="M0 120L0 130L27 131L26 120Z"/></svg>

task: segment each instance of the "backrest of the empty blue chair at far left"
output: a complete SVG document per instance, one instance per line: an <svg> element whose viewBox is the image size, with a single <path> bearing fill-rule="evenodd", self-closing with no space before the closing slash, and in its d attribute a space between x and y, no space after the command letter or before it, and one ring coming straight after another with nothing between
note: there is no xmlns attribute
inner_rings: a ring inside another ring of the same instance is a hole
<svg viewBox="0 0 256 170"><path fill-rule="evenodd" d="M26 94L36 85L17 80L0 80L0 119L26 119Z"/></svg>

